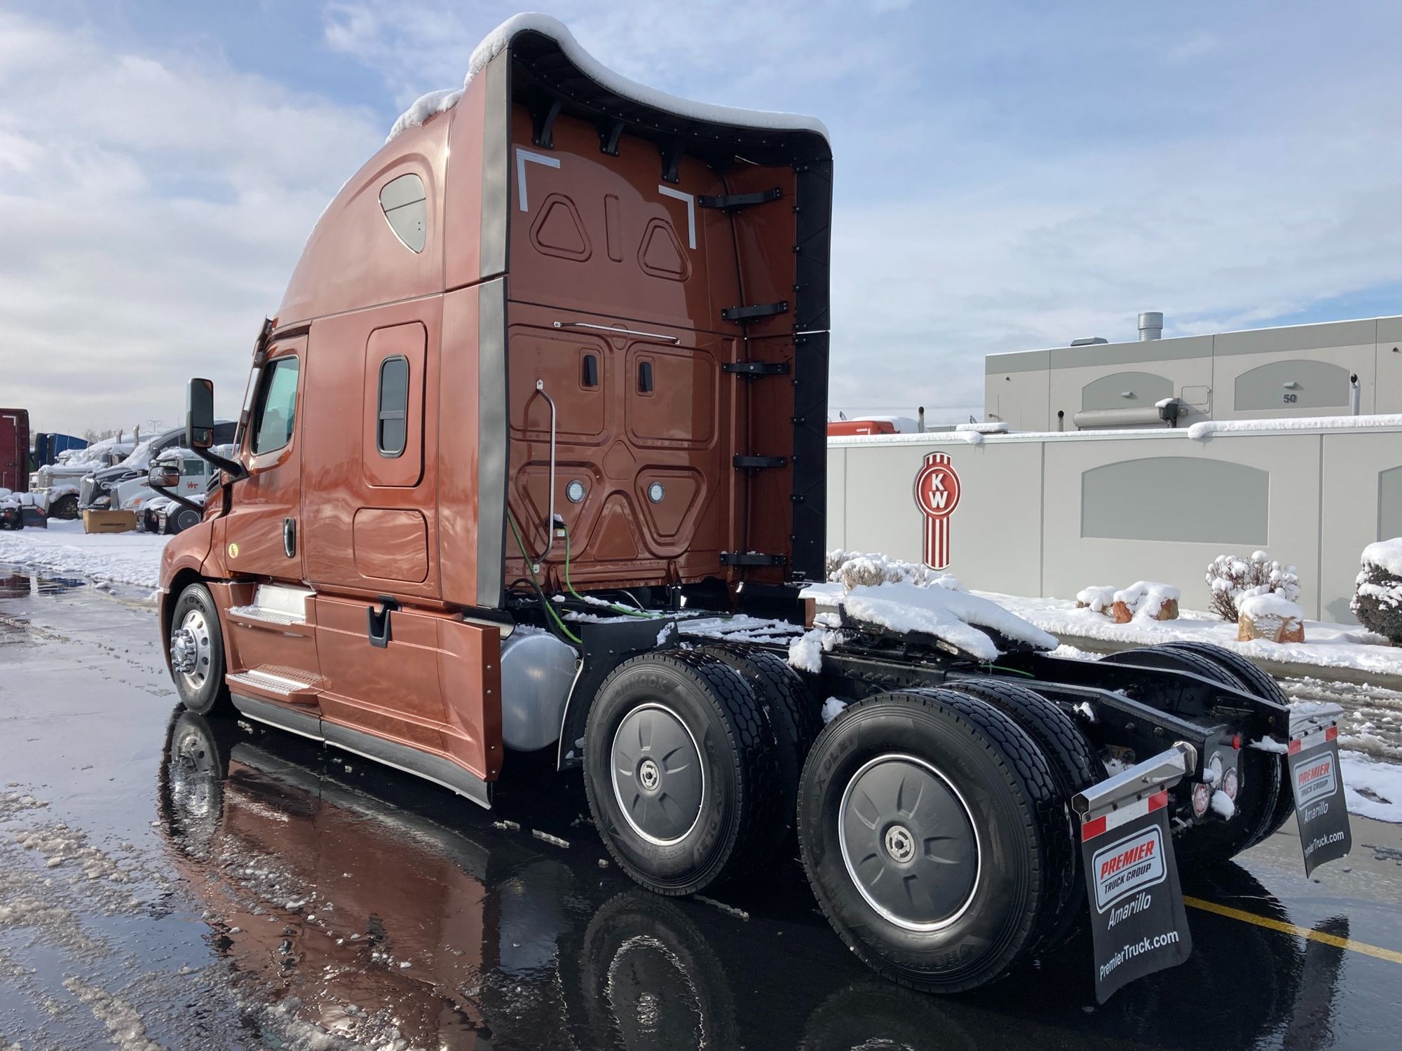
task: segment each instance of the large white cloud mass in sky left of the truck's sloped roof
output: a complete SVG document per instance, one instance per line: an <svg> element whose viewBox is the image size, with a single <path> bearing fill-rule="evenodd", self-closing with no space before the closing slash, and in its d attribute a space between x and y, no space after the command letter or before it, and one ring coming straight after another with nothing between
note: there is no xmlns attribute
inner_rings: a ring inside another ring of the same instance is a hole
<svg viewBox="0 0 1402 1051"><path fill-rule="evenodd" d="M380 121L0 14L0 360L36 429L236 411L258 324ZM24 102L21 102L24 99Z"/></svg>

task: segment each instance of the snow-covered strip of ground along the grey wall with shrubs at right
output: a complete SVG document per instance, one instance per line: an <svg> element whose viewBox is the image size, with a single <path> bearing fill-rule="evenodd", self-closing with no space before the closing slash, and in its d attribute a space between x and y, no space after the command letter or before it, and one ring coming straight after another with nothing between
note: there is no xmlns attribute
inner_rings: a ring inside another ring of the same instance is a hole
<svg viewBox="0 0 1402 1051"><path fill-rule="evenodd" d="M1319 668L1354 668L1382 675L1402 675L1402 647L1388 646L1381 635L1357 625L1305 621L1305 642L1237 642L1237 625L1214 614L1180 610L1176 621L1134 619L1115 624L1092 610L1077 610L1067 598L1025 598L977 591L1061 639L1096 639L1136 646L1152 646L1171 639L1213 642L1252 660L1314 664Z"/></svg>

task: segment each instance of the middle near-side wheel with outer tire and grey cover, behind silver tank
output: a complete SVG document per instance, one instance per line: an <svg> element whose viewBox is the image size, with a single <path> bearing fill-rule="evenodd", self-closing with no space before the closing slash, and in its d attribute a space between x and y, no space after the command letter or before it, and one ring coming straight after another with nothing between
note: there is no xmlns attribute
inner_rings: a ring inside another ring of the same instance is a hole
<svg viewBox="0 0 1402 1051"><path fill-rule="evenodd" d="M604 846L659 894L695 894L773 852L782 797L750 684L693 650L644 653L589 709L585 790Z"/></svg>

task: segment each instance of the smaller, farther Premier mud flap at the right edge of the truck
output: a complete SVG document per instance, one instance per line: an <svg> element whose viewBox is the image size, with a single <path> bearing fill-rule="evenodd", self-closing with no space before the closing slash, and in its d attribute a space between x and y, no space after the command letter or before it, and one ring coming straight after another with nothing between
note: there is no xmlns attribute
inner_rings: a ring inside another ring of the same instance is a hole
<svg viewBox="0 0 1402 1051"><path fill-rule="evenodd" d="M1325 862L1338 860L1353 849L1349 809L1343 799L1339 769L1339 726L1342 709L1329 705L1290 720L1290 788L1295 793L1295 820L1305 876Z"/></svg>

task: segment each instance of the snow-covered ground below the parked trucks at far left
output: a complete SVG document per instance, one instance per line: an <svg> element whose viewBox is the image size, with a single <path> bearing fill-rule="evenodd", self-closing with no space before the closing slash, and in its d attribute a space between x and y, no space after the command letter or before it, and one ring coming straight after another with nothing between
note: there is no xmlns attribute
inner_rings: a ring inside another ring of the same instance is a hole
<svg viewBox="0 0 1402 1051"><path fill-rule="evenodd" d="M158 587L161 551L168 540L150 533L86 534L81 521L50 521L46 530L0 533L0 563Z"/></svg>

